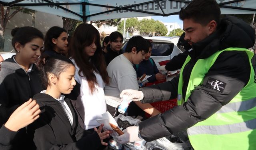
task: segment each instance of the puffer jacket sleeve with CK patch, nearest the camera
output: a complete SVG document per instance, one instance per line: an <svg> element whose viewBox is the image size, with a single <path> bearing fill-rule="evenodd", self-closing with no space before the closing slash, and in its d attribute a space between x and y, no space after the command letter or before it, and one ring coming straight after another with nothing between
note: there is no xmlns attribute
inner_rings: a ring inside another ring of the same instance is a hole
<svg viewBox="0 0 256 150"><path fill-rule="evenodd" d="M244 54L217 58L202 86L195 88L187 102L139 124L142 137L146 141L152 141L185 130L206 120L228 104L250 78L249 59ZM208 86L210 79L222 82L223 90L218 91Z"/></svg>

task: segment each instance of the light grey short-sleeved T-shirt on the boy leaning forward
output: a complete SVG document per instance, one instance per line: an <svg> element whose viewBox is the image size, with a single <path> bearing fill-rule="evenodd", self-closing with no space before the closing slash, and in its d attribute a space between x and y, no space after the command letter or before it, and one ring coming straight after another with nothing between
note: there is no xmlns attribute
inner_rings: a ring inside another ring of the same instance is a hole
<svg viewBox="0 0 256 150"><path fill-rule="evenodd" d="M132 62L124 54L114 58L107 67L110 77L109 85L105 86L106 103L112 107L118 108L121 104L120 93L125 89L138 90L136 71Z"/></svg>

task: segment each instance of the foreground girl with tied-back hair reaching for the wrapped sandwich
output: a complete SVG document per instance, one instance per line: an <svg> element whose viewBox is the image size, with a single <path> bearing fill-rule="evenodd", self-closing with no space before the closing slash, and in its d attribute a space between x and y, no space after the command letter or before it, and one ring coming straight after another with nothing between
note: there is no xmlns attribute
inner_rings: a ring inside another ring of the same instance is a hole
<svg viewBox="0 0 256 150"><path fill-rule="evenodd" d="M64 56L46 56L38 62L42 71L42 86L46 88L36 94L35 99L41 109L40 118L27 127L37 150L97 150L107 145L102 140L109 137L110 131L101 133L103 124L97 130L83 130L78 123L70 99L61 95L69 94L76 81L76 68Z"/></svg>

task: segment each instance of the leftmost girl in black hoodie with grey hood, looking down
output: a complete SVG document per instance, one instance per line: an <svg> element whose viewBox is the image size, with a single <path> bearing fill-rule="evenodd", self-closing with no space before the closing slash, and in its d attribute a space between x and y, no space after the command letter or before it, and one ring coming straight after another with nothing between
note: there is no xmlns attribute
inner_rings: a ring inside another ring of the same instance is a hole
<svg viewBox="0 0 256 150"><path fill-rule="evenodd" d="M34 63L41 56L43 34L33 27L14 28L12 30L12 46L16 55L2 62L0 71L0 111L6 109L1 122L6 122L10 114L18 106L32 98L42 90L39 70ZM32 141L31 141L32 142ZM14 149L27 149L31 146L26 137L26 130L22 128L16 140ZM17 147L16 147L17 146Z"/></svg>

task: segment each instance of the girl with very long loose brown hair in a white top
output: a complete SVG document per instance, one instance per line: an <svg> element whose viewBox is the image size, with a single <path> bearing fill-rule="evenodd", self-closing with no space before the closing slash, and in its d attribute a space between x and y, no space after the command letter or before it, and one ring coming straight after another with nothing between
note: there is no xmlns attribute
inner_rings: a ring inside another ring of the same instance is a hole
<svg viewBox="0 0 256 150"><path fill-rule="evenodd" d="M98 30L91 24L80 24L72 36L70 52L76 66L75 79L80 84L80 104L75 107L84 129L93 129L100 126L96 120L106 112L104 87L109 83Z"/></svg>

